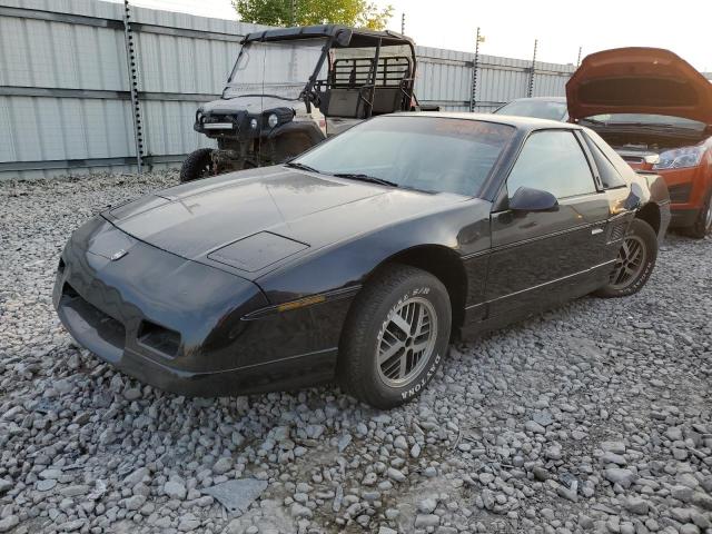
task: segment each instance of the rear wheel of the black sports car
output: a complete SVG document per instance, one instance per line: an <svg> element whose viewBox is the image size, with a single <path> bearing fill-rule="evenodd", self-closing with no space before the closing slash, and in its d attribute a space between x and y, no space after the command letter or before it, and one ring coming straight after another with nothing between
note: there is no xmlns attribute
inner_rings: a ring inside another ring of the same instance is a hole
<svg viewBox="0 0 712 534"><path fill-rule="evenodd" d="M623 238L609 283L596 291L600 297L626 297L640 291L655 267L657 238L642 219L633 219Z"/></svg>

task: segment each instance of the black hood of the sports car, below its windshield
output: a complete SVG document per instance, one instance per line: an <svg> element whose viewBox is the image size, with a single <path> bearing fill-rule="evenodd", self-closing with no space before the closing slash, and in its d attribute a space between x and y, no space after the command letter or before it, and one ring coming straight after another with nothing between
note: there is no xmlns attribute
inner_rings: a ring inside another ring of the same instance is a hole
<svg viewBox="0 0 712 534"><path fill-rule="evenodd" d="M255 278L295 255L463 199L279 166L185 184L102 215L162 250Z"/></svg>

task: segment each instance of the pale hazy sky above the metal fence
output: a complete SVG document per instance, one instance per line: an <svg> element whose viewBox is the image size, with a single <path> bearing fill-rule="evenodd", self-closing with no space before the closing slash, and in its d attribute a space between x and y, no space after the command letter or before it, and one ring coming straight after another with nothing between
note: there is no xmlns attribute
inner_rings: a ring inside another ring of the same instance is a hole
<svg viewBox="0 0 712 534"><path fill-rule="evenodd" d="M298 1L298 0L297 0ZM131 0L136 6L235 19L230 0ZM709 40L711 0L375 0L392 4L388 28L426 47L474 51L476 28L485 41L481 53L554 63L575 63L607 48L666 48L698 70L712 71ZM593 7L592 7L593 6Z"/></svg>

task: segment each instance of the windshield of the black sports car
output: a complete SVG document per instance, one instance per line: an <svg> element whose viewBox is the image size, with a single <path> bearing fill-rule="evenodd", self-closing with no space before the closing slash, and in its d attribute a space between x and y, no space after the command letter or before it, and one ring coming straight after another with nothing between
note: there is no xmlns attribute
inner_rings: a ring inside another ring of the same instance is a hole
<svg viewBox="0 0 712 534"><path fill-rule="evenodd" d="M317 146L291 165L429 192L477 196L515 129L445 117L384 116Z"/></svg>

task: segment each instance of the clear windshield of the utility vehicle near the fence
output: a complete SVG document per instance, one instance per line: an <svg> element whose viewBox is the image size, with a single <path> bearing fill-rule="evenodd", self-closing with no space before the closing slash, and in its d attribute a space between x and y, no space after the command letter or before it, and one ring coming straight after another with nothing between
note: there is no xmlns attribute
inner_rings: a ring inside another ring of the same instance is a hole
<svg viewBox="0 0 712 534"><path fill-rule="evenodd" d="M296 100L322 56L326 39L246 43L222 98L265 95ZM326 71L326 61L323 66Z"/></svg>

